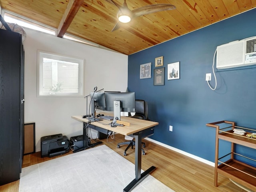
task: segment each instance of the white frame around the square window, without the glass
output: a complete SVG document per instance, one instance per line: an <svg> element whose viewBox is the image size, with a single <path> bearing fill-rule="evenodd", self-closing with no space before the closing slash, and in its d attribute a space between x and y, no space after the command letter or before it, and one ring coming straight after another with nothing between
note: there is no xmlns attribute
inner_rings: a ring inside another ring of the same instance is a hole
<svg viewBox="0 0 256 192"><path fill-rule="evenodd" d="M55 60L63 60L67 62L78 63L78 93L62 93L62 92L43 92L43 58L51 58ZM70 56L63 56L37 51L37 96L38 97L83 97L84 96L84 59L74 58Z"/></svg>

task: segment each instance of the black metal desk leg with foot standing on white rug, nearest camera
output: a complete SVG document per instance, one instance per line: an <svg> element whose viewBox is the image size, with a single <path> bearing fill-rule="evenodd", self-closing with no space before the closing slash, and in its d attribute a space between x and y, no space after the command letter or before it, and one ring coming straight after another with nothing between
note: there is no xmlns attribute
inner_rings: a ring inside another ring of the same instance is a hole
<svg viewBox="0 0 256 192"><path fill-rule="evenodd" d="M149 169L141 173L141 142L142 136L139 133L134 135L135 138L135 179L124 188L124 192L130 192L134 187L136 187L146 176L150 174L156 167L151 166Z"/></svg>

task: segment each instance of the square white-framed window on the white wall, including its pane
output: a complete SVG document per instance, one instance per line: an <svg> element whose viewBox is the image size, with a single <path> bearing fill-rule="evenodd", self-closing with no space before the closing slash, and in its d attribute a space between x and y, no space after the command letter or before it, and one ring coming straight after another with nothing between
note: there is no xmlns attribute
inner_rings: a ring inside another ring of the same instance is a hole
<svg viewBox="0 0 256 192"><path fill-rule="evenodd" d="M38 96L83 96L84 60L38 51Z"/></svg>

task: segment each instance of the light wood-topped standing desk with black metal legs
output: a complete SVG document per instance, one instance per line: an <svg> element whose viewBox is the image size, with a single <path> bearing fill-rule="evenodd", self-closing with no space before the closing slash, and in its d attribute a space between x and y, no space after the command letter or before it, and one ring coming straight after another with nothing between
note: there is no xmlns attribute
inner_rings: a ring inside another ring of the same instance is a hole
<svg viewBox="0 0 256 192"><path fill-rule="evenodd" d="M111 115L111 114L107 114ZM82 118L82 116L72 116L73 119L88 123L88 119ZM131 191L136 185L138 185L150 172L152 172L156 167L151 166L148 170L141 173L141 142L142 138L154 133L153 127L158 125L158 122L146 121L130 117L121 117L122 121L129 122L130 126L117 126L111 127L109 123L111 121L102 120L99 122L90 122L90 125L103 128L104 130L113 131L122 135L132 135L135 138L135 179L124 188L124 192Z"/></svg>

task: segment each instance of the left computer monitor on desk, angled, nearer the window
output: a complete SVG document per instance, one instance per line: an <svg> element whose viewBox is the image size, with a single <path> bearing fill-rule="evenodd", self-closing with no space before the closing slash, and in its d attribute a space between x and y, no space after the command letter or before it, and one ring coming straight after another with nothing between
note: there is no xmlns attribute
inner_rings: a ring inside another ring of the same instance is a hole
<svg viewBox="0 0 256 192"><path fill-rule="evenodd" d="M91 113L94 113L97 109L106 110L105 93L103 92L91 92Z"/></svg>

